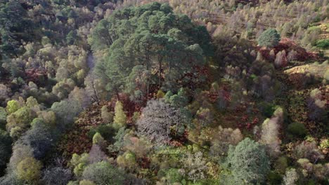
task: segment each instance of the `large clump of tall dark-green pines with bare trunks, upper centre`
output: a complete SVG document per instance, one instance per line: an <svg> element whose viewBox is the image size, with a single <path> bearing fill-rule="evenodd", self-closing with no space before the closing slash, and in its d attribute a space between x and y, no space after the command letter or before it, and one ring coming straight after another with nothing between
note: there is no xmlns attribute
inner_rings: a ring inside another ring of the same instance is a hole
<svg viewBox="0 0 329 185"><path fill-rule="evenodd" d="M110 93L132 93L136 87L145 94L150 83L177 88L178 79L205 64L204 57L212 53L207 30L168 7L153 2L124 8L96 25L89 43L94 51L108 49L96 73L107 80Z"/></svg>

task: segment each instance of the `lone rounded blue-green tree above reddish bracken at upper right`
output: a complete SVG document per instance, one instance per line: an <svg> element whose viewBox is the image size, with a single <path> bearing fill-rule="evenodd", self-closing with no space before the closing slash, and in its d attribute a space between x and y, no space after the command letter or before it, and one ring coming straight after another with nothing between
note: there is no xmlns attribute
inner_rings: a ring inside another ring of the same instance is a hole
<svg viewBox="0 0 329 185"><path fill-rule="evenodd" d="M280 34L276 29L266 29L257 39L259 46L272 48L278 45Z"/></svg>

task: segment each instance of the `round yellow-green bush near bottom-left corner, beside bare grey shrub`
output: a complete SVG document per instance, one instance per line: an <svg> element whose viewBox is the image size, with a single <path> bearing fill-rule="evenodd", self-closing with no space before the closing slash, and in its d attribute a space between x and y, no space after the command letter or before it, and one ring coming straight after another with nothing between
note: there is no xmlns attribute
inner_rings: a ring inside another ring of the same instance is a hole
<svg viewBox="0 0 329 185"><path fill-rule="evenodd" d="M41 177L41 167L40 161L34 158L25 158L17 166L18 178L29 183L35 183Z"/></svg>

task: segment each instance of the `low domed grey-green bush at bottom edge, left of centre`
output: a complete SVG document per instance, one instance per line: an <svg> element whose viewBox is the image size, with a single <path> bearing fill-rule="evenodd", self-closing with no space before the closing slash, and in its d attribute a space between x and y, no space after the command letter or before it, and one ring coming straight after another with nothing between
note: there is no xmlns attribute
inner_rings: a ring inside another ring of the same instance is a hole
<svg viewBox="0 0 329 185"><path fill-rule="evenodd" d="M124 173L110 163L102 161L88 165L82 174L82 179L90 180L98 185L124 184Z"/></svg>

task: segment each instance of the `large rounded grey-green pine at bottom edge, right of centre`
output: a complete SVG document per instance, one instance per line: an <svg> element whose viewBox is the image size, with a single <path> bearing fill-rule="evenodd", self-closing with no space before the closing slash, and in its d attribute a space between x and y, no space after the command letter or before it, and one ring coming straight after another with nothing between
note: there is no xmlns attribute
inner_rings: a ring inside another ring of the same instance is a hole
<svg viewBox="0 0 329 185"><path fill-rule="evenodd" d="M227 163L237 184L262 183L269 172L264 146L248 137L229 149Z"/></svg>

